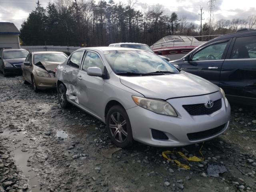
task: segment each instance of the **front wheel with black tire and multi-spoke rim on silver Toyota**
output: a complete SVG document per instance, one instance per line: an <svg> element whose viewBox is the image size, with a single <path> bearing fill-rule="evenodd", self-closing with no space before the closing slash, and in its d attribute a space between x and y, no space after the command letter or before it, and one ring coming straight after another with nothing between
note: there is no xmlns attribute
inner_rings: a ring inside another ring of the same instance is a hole
<svg viewBox="0 0 256 192"><path fill-rule="evenodd" d="M106 128L110 139L116 146L120 148L132 146L132 128L128 114L122 106L115 105L110 108L106 118Z"/></svg>

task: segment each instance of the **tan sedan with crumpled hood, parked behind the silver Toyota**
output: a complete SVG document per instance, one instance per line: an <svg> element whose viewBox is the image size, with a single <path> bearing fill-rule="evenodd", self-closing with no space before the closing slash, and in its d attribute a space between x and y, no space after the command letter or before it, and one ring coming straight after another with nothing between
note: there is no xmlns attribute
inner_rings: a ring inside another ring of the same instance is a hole
<svg viewBox="0 0 256 192"><path fill-rule="evenodd" d="M55 69L68 56L62 52L41 51L28 54L22 64L24 84L31 83L35 92L55 88Z"/></svg>

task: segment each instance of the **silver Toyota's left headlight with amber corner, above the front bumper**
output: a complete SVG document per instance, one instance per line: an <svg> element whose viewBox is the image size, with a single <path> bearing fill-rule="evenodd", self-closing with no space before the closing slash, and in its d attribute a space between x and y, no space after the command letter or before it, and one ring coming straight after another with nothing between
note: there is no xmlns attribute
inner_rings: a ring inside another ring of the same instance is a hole
<svg viewBox="0 0 256 192"><path fill-rule="evenodd" d="M132 96L134 102L141 106L142 108L148 109L158 114L169 115L169 116L177 116L174 108L163 100L160 99L149 99L138 96Z"/></svg>

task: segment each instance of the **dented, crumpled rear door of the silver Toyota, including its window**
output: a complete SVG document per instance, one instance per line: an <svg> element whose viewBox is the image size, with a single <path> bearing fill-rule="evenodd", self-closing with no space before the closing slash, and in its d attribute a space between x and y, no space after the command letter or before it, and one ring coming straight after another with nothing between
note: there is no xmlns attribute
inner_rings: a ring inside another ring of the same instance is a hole
<svg viewBox="0 0 256 192"><path fill-rule="evenodd" d="M67 88L66 95L70 100L76 102L77 104L79 104L79 100L77 98L79 94L77 79L83 54L84 50L73 52L62 71L63 82Z"/></svg>

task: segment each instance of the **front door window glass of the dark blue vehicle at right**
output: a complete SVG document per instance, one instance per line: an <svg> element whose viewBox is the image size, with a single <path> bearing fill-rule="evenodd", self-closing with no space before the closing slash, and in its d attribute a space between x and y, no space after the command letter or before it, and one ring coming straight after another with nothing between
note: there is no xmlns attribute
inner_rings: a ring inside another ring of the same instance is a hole
<svg viewBox="0 0 256 192"><path fill-rule="evenodd" d="M196 52L192 58L192 61L220 60L227 44L228 41L209 45L206 48Z"/></svg>

